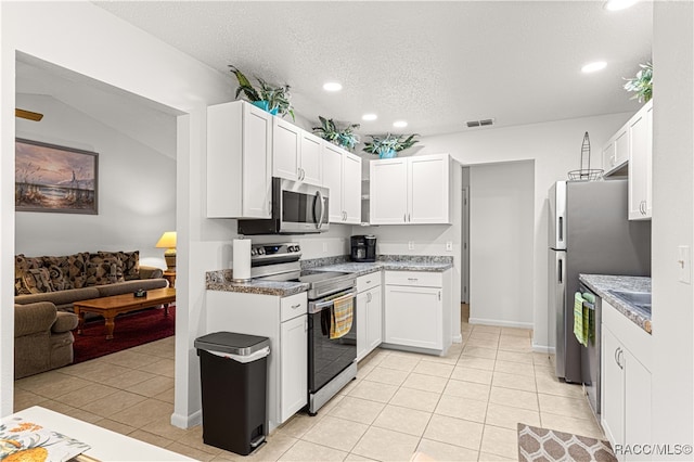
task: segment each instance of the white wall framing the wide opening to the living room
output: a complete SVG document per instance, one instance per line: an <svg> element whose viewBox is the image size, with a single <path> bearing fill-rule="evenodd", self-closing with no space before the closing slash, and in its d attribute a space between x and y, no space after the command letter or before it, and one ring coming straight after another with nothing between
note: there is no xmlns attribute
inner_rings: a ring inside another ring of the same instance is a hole
<svg viewBox="0 0 694 462"><path fill-rule="evenodd" d="M25 53L166 107L178 117L176 402L172 421L200 419L194 338L202 334L205 271L229 241L204 217L206 107L233 99L231 79L88 2L0 3L0 370L14 362L15 59ZM156 56L156 59L153 59ZM167 112L167 111L164 111ZM188 315L188 316L185 316ZM12 412L13 377L0 374L0 415Z"/></svg>

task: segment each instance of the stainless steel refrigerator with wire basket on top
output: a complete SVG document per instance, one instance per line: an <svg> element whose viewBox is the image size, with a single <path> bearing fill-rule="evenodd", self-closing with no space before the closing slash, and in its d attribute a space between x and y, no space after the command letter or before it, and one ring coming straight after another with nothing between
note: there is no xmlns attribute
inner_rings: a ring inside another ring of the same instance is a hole
<svg viewBox="0 0 694 462"><path fill-rule="evenodd" d="M574 336L579 273L651 275L651 221L627 218L628 181L557 181L549 193L549 335L556 376L582 383Z"/></svg>

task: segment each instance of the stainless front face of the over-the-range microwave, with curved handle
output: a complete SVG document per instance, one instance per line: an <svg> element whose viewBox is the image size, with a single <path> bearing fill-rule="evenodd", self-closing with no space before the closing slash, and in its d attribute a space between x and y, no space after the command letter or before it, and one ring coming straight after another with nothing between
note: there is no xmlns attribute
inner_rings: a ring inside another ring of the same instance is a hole
<svg viewBox="0 0 694 462"><path fill-rule="evenodd" d="M273 216L281 233L310 233L329 230L329 189L283 178L272 179Z"/></svg>

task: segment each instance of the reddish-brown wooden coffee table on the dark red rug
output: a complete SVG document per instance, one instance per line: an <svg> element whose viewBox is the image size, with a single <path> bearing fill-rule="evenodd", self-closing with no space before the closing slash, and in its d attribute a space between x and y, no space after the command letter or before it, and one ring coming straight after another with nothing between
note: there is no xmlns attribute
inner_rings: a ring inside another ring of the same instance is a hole
<svg viewBox="0 0 694 462"><path fill-rule="evenodd" d="M113 338L116 316L136 311L143 308L152 308L164 305L164 316L169 316L169 304L176 301L176 288L154 288L147 291L145 297L136 297L133 294L112 295L110 297L92 298L75 301L73 307L75 315L79 317L77 333L81 334L85 328L85 312L101 315L106 320L106 339Z"/></svg>

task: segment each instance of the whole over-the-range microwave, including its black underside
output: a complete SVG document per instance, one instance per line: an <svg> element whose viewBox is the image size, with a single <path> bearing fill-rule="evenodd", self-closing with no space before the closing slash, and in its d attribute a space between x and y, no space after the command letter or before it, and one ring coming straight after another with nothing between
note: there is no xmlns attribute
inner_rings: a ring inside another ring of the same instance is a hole
<svg viewBox="0 0 694 462"><path fill-rule="evenodd" d="M329 229L330 190L272 178L272 218L239 220L239 234L308 234Z"/></svg>

